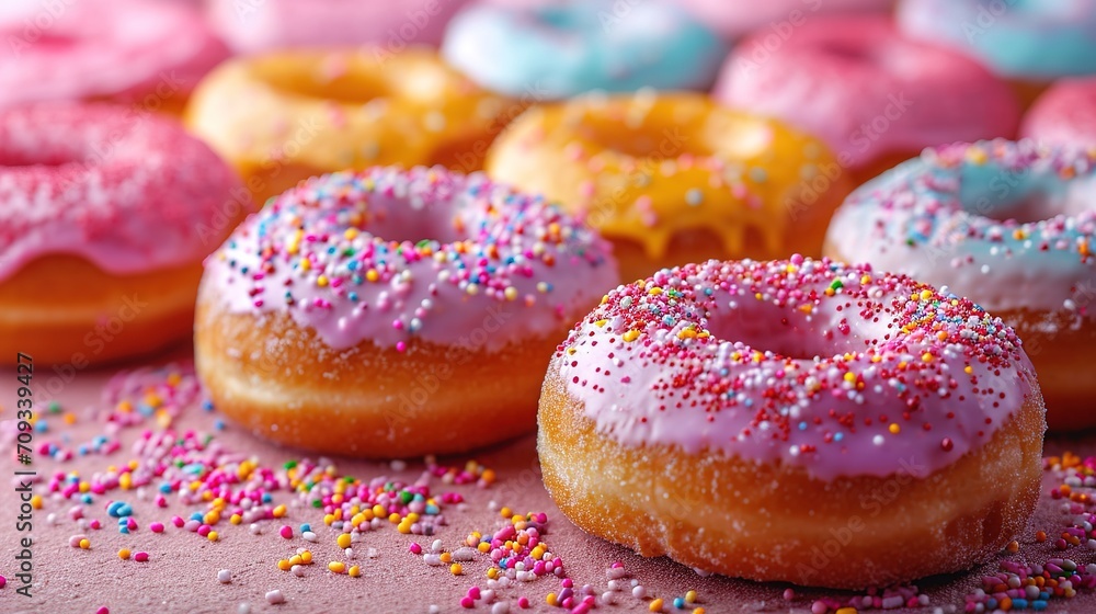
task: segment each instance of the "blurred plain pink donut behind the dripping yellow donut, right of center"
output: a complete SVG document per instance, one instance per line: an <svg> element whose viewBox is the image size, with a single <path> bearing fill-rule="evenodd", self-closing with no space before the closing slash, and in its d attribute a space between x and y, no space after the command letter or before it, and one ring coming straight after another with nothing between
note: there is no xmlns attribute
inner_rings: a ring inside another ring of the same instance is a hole
<svg viewBox="0 0 1096 614"><path fill-rule="evenodd" d="M1016 134L1020 110L1005 82L903 38L887 18L811 19L773 50L765 36L735 48L713 95L819 136L857 183L925 147Z"/></svg>

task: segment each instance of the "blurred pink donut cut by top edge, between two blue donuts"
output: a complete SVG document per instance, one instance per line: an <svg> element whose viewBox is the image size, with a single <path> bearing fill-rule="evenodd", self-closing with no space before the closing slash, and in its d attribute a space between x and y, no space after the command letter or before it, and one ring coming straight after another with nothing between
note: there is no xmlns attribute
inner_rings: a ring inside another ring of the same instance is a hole
<svg viewBox="0 0 1096 614"><path fill-rule="evenodd" d="M499 0L495 0L499 1ZM815 14L881 13L890 11L893 0L779 0L764 4L721 0L680 0L696 18L713 27L724 38L737 39L758 30L776 34L780 42Z"/></svg>

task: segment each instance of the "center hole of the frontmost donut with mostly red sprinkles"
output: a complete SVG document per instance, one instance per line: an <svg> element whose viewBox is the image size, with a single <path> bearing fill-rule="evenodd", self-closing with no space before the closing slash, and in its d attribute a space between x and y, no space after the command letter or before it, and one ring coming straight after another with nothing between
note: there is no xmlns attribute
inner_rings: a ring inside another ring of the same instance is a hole
<svg viewBox="0 0 1096 614"><path fill-rule="evenodd" d="M842 333L836 320L808 319L794 307L780 307L752 296L735 297L735 308L720 306L710 311L708 331L727 342L742 342L758 352L769 351L786 359L810 361L845 352L863 352L865 340L855 330ZM726 302L721 302L726 305ZM820 326L822 325L822 326Z"/></svg>

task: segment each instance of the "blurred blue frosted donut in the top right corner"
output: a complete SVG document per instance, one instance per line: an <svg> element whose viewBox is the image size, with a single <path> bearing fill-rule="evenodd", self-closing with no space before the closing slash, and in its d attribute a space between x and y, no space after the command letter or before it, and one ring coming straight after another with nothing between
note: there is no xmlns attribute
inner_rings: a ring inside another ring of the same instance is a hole
<svg viewBox="0 0 1096 614"><path fill-rule="evenodd" d="M1096 0L903 0L909 35L1029 81L1096 72Z"/></svg>

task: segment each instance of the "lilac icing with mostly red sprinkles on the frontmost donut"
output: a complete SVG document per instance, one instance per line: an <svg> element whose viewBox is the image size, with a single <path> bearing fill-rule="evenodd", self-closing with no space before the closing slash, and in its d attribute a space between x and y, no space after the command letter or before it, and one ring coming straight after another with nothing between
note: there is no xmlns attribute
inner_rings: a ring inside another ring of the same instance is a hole
<svg viewBox="0 0 1096 614"><path fill-rule="evenodd" d="M1013 330L973 303L801 257L620 286L551 368L624 445L781 462L824 480L954 463L1035 382Z"/></svg>

